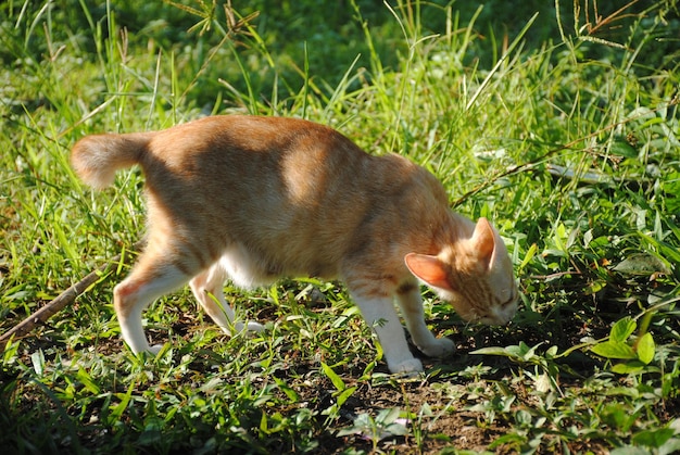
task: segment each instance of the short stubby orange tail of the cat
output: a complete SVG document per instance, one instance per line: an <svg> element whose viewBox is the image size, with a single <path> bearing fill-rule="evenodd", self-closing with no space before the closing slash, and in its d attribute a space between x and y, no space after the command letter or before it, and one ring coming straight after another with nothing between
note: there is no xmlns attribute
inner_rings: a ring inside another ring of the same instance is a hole
<svg viewBox="0 0 680 455"><path fill-rule="evenodd" d="M92 135L80 139L71 152L71 164L87 185L101 189L113 184L118 169L140 162L155 132Z"/></svg>

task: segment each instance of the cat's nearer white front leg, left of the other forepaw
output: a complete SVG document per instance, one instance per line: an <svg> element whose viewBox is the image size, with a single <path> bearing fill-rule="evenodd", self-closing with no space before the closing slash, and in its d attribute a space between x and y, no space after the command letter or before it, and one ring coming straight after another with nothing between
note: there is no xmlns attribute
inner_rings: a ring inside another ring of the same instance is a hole
<svg viewBox="0 0 680 455"><path fill-rule="evenodd" d="M353 293L352 296L364 320L378 336L390 372L423 371L423 363L408 350L404 328L399 320L392 299L365 296L361 293Z"/></svg>

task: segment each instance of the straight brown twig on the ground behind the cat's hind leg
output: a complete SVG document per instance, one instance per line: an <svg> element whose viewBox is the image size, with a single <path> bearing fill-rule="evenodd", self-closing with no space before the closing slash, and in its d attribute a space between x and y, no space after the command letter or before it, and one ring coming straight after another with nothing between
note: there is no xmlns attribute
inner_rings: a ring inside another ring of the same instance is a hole
<svg viewBox="0 0 680 455"><path fill-rule="evenodd" d="M138 250L140 243L135 244L135 250ZM26 319L18 323L16 326L12 327L7 332L0 336L0 350L4 351L4 347L11 340L16 340L18 338L23 338L28 334L33 329L35 329L38 325L45 324L50 317L54 316L56 313L62 311L66 305L73 303L76 298L83 294L90 286L95 285L99 281L104 273L108 269L119 263L124 257L125 252L121 254L116 254L111 261L96 270L88 274L80 281L76 282L64 292L59 294L54 300L50 303L28 316Z"/></svg>

